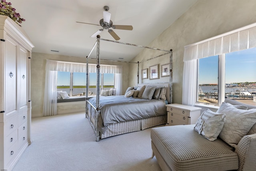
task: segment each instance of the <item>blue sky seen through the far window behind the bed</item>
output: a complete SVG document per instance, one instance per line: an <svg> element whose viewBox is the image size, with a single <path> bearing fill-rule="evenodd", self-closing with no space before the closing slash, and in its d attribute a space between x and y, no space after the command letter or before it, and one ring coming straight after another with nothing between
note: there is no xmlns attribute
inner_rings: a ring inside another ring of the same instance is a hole
<svg viewBox="0 0 256 171"><path fill-rule="evenodd" d="M90 73L90 85L96 82L96 73ZM57 85L70 85L70 72L58 72ZM73 85L86 85L86 73L74 73ZM104 74L104 85L114 85L114 74Z"/></svg>

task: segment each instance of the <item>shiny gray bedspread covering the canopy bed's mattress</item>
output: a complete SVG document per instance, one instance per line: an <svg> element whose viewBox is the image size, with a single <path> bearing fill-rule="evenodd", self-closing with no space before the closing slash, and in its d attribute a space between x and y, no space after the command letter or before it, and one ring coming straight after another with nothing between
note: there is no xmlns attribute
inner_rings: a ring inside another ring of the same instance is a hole
<svg viewBox="0 0 256 171"><path fill-rule="evenodd" d="M96 107L96 97L88 100ZM100 97L100 118L98 125L104 128L112 123L133 121L149 117L167 115L165 102L157 99L138 97L104 96Z"/></svg>

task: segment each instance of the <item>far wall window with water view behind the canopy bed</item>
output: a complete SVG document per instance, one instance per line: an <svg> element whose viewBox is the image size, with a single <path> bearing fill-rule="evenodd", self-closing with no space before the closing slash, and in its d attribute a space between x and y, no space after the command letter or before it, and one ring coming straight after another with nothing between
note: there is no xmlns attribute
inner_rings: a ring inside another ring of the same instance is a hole
<svg viewBox="0 0 256 171"><path fill-rule="evenodd" d="M89 93L96 95L96 73L89 73ZM114 74L102 73L100 75L100 88L114 88ZM70 97L82 96L86 94L86 73L84 72L61 72L58 71L57 91L66 91Z"/></svg>

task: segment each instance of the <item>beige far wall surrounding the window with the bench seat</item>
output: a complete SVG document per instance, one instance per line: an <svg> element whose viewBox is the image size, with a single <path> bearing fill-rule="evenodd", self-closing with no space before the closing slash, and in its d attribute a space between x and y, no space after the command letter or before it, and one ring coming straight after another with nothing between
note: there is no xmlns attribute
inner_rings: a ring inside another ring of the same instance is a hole
<svg viewBox="0 0 256 171"><path fill-rule="evenodd" d="M73 56L60 56L52 54L32 53L31 57L31 101L32 117L42 116L44 104L44 80L46 60L58 60L68 62L86 63L85 58ZM95 64L96 60L89 60L89 63ZM101 61L100 64L123 66L122 89L125 92L129 81L129 63Z"/></svg>

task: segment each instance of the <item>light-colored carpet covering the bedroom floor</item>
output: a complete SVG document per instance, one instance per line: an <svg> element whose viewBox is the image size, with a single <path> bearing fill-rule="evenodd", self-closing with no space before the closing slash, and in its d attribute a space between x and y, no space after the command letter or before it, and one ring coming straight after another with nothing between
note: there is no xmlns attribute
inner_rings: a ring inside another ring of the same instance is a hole
<svg viewBox="0 0 256 171"><path fill-rule="evenodd" d="M96 142L83 113L32 118L32 144L13 171L161 171L151 128Z"/></svg>

